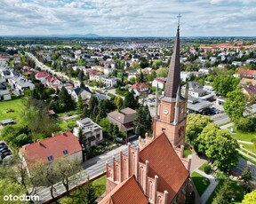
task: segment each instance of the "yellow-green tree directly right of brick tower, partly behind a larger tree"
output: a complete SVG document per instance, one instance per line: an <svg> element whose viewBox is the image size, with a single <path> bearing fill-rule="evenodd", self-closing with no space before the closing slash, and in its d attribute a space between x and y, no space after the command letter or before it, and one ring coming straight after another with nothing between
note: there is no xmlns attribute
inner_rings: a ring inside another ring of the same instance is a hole
<svg viewBox="0 0 256 204"><path fill-rule="evenodd" d="M186 140L195 145L196 137L200 135L204 127L213 122L212 118L202 114L188 114Z"/></svg>

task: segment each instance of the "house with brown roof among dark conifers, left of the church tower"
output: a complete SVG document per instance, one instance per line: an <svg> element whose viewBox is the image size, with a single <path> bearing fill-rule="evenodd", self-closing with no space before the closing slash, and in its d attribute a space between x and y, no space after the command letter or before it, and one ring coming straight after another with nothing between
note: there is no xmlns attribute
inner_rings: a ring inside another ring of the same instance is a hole
<svg viewBox="0 0 256 204"><path fill-rule="evenodd" d="M126 107L120 111L113 111L108 114L108 121L116 124L118 129L124 133L133 133L133 121L135 120L136 111Z"/></svg>

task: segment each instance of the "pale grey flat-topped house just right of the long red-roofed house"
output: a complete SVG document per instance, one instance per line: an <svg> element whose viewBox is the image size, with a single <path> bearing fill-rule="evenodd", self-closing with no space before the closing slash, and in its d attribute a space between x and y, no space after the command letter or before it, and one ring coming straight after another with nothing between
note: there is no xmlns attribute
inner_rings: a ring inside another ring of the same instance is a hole
<svg viewBox="0 0 256 204"><path fill-rule="evenodd" d="M82 129L85 144L88 146L98 145L102 142L102 128L97 123L92 122L90 118L76 121L76 127L73 130L76 137L79 137L79 129Z"/></svg>

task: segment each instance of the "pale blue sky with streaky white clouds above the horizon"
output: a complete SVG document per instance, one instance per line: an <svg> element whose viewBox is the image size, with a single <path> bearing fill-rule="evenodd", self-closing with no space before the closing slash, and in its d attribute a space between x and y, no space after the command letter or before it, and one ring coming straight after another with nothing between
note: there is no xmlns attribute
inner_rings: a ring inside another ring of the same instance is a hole
<svg viewBox="0 0 256 204"><path fill-rule="evenodd" d="M256 0L1 0L0 35L256 36Z"/></svg>

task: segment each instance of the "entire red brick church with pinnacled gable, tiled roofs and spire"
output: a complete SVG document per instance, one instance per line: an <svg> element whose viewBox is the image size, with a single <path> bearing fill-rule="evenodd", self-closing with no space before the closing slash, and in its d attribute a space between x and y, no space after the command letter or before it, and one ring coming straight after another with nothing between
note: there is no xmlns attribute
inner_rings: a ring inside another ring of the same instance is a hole
<svg viewBox="0 0 256 204"><path fill-rule="evenodd" d="M156 116L153 136L139 137L139 144L128 144L128 153L120 153L107 164L106 195L100 204L185 203L188 197L191 157L184 158L187 97L180 96L180 27L164 88L164 97L156 91ZM187 91L188 92L188 91Z"/></svg>

